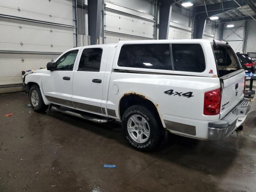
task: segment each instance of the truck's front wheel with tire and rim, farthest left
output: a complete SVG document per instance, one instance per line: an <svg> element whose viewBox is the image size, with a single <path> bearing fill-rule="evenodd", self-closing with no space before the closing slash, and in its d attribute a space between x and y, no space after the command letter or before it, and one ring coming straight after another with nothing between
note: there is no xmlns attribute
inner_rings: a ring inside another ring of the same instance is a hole
<svg viewBox="0 0 256 192"><path fill-rule="evenodd" d="M44 112L48 109L48 105L44 104L42 94L38 85L34 84L29 90L29 101L35 112Z"/></svg>

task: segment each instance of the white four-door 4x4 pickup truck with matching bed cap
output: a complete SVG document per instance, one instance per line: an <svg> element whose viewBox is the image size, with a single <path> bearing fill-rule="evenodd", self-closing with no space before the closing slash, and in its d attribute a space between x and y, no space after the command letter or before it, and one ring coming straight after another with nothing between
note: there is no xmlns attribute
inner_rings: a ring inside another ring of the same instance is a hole
<svg viewBox="0 0 256 192"><path fill-rule="evenodd" d="M67 50L25 76L32 108L94 122L122 121L128 142L151 150L164 130L222 140L249 111L245 73L224 41L137 40Z"/></svg>

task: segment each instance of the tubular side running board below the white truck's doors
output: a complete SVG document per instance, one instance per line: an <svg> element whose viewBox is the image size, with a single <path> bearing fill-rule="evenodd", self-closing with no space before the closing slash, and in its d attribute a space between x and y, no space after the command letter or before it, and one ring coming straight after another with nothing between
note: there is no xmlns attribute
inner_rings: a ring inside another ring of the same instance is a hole
<svg viewBox="0 0 256 192"><path fill-rule="evenodd" d="M62 112L62 113L68 114L68 115L76 116L76 117L79 117L79 118L82 118L82 119L85 119L85 120L89 120L89 121L92 121L92 122L96 122L96 123L107 123L107 122L110 122L110 121L114 120L114 119L111 119L111 118L96 116L94 114L80 112L80 111L72 110L72 109L69 109L69 108L62 108L62 107L55 106L55 105L52 105L50 107L50 109L58 111L58 112Z"/></svg>

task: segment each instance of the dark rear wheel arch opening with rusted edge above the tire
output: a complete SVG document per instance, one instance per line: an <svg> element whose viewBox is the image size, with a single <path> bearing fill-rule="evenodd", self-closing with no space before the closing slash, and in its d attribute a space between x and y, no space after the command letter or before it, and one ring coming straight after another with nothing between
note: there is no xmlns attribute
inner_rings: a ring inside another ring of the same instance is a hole
<svg viewBox="0 0 256 192"><path fill-rule="evenodd" d="M144 95L137 94L137 93L127 93L122 96L119 102L119 116L122 119L122 115L124 114L124 111L133 105L141 105L145 106L146 108L153 110L154 113L157 115L157 118L162 122L162 125L165 127L164 120L161 118L161 115L159 113L158 104L155 104L147 98Z"/></svg>

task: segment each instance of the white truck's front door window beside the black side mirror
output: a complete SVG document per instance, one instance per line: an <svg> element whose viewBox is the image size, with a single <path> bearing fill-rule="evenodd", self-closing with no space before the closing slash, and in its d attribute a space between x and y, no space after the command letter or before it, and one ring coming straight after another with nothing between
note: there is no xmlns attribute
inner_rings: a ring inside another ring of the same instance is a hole
<svg viewBox="0 0 256 192"><path fill-rule="evenodd" d="M57 70L73 70L74 63L76 60L76 55L78 50L72 50L65 53L59 60L56 62Z"/></svg>

